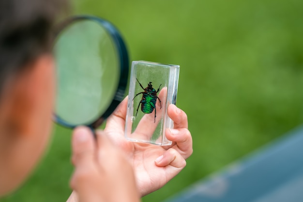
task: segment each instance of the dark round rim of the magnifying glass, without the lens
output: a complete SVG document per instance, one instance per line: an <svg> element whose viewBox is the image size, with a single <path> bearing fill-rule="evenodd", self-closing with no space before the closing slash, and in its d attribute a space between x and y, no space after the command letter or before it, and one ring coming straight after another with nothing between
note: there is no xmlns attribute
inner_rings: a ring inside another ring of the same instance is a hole
<svg viewBox="0 0 303 202"><path fill-rule="evenodd" d="M119 79L119 84L118 84L118 87L117 87L117 90L113 97L112 102L110 103L110 105L106 109L106 111L103 114L101 114L97 120L93 121L90 124L86 124L87 126L94 129L94 128L99 127L103 123L103 121L106 120L106 118L112 114L112 112L116 109L116 107L122 101L122 99L124 97L126 85L127 85L127 78L128 78L128 72L129 72L129 59L128 59L127 49L122 40L120 32L115 28L115 26L113 24L111 24L110 22L108 22L100 17L97 17L97 16L71 17L59 25L58 29L56 30L55 36L58 36L58 34L62 30L64 30L68 25L70 25L76 21L81 21L81 20L95 21L106 29L106 31L110 34L110 36L112 37L112 39L114 41L114 45L116 47L116 50L117 50L118 56L119 56L119 60L120 60L120 79ZM54 114L54 120L58 124L61 124L65 127L74 128L74 127L78 126L77 124L70 124L70 123L66 122L64 119L59 117L57 114Z"/></svg>

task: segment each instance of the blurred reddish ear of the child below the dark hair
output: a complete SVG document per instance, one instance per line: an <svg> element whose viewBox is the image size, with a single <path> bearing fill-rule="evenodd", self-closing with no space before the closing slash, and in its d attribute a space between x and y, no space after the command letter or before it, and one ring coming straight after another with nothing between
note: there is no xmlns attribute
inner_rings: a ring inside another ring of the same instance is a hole
<svg viewBox="0 0 303 202"><path fill-rule="evenodd" d="M41 79L43 69L49 66L47 57L41 57L30 66L25 67L24 71L20 72L13 78L7 93L8 110L5 126L5 132L10 135L28 135L31 134L30 122L32 121L32 113L34 106L39 102L41 94Z"/></svg>

